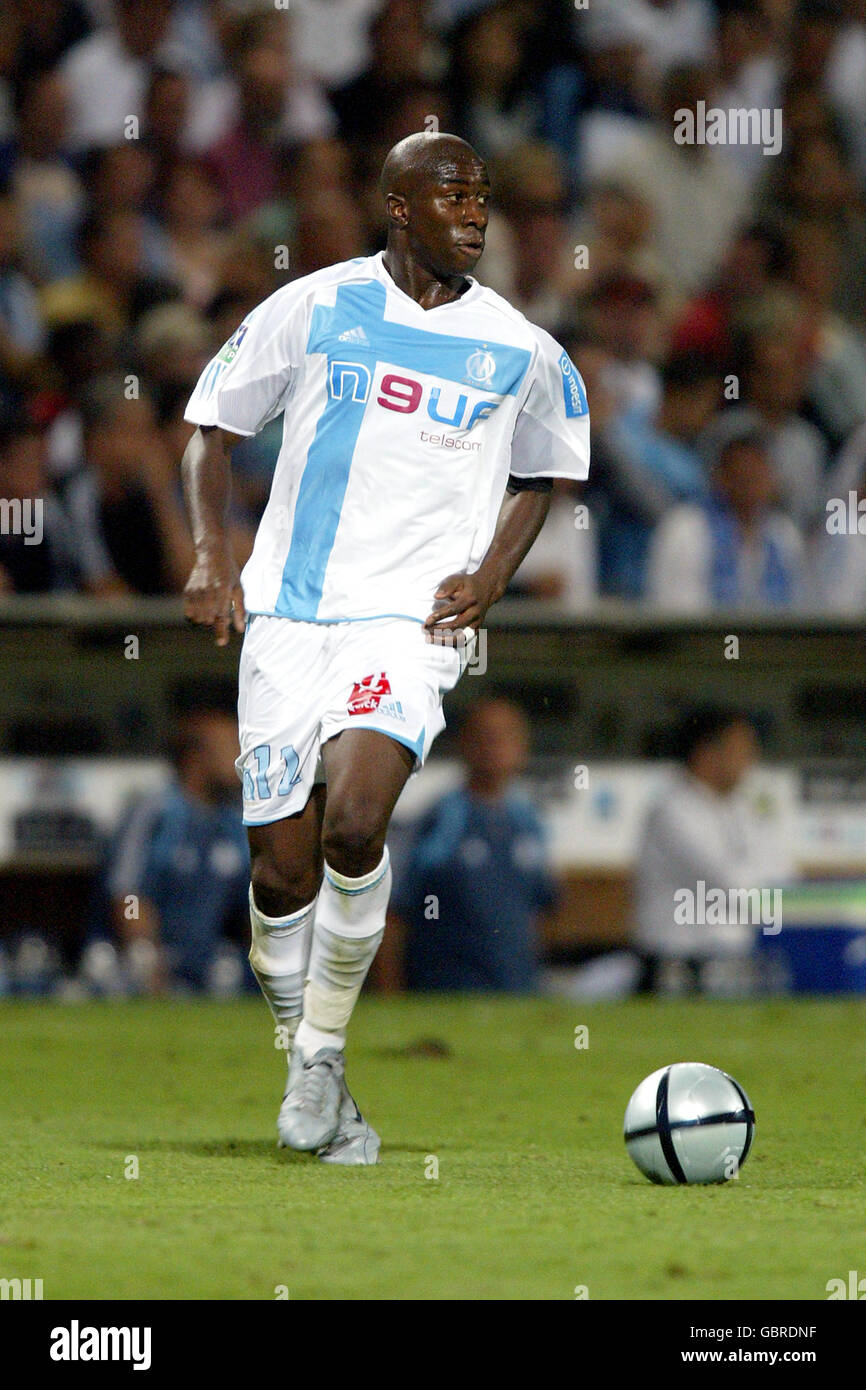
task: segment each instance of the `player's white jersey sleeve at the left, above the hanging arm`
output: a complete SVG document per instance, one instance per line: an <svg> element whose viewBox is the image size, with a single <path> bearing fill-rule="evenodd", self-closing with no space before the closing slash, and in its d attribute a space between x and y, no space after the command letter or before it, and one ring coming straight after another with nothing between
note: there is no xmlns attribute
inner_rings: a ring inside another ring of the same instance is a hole
<svg viewBox="0 0 866 1390"><path fill-rule="evenodd" d="M303 360L307 303L285 285L253 309L199 377L183 418L254 435L278 416Z"/></svg>

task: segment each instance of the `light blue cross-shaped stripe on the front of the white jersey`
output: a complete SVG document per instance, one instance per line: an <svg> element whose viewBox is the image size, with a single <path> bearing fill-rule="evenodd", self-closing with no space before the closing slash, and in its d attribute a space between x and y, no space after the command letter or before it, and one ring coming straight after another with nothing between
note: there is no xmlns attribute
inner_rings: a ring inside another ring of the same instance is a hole
<svg viewBox="0 0 866 1390"><path fill-rule="evenodd" d="M325 304L313 309L306 352L328 359L328 399L318 417L297 489L292 539L275 605L279 616L304 621L317 616L370 382L378 363L456 381L498 396L517 395L528 371L531 353L525 348L386 322L386 297L385 286L371 279L360 285L339 285L334 309ZM342 342L341 334L345 335ZM343 364L336 384L335 363ZM353 363L361 370L352 373ZM364 381L366 373L368 377Z"/></svg>

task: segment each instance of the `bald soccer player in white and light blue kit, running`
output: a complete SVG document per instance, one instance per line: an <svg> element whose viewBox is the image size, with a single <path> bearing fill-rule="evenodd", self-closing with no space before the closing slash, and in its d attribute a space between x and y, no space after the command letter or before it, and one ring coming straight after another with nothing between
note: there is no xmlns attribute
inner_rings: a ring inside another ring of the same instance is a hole
<svg viewBox="0 0 866 1390"><path fill-rule="evenodd" d="M468 272L489 181L464 140L410 135L382 168L386 250L254 309L204 368L183 455L186 616L245 632L240 756L250 963L292 1040L279 1143L375 1162L346 1029L385 927L395 802L443 728L492 603L587 477L589 417L559 343ZM229 456L284 414L253 555L228 543Z"/></svg>

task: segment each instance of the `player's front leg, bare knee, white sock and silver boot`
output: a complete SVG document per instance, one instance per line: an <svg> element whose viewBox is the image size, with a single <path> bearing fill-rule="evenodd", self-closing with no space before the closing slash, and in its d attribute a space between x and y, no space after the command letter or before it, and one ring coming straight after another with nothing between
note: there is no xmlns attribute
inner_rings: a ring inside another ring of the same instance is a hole
<svg viewBox="0 0 866 1390"><path fill-rule="evenodd" d="M385 930L391 866L388 823L414 753L374 730L343 730L322 744L328 783L318 894L303 1019L281 1112L289 1147L314 1150L336 1133L346 1027Z"/></svg>

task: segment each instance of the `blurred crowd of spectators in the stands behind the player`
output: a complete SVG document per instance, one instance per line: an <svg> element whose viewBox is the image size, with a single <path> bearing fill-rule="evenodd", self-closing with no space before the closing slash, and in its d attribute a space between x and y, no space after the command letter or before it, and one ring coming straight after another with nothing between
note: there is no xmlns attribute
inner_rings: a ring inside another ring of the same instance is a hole
<svg viewBox="0 0 866 1390"><path fill-rule="evenodd" d="M765 143L678 143L710 108ZM7 0L0 496L43 538L4 528L0 592L182 589L202 367L384 246L384 154L436 128L489 161L478 278L591 403L514 595L859 613L866 0ZM235 452L240 562L279 428Z"/></svg>

